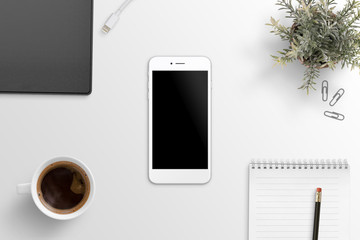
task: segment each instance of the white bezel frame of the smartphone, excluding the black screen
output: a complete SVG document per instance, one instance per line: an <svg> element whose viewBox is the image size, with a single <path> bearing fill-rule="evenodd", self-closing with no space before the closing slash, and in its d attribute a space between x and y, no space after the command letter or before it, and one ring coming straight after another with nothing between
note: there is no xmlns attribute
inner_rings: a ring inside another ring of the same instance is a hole
<svg viewBox="0 0 360 240"><path fill-rule="evenodd" d="M152 168L152 72L208 72L208 169ZM205 184L211 179L211 62L206 57L153 57L149 61L149 179L155 184Z"/></svg>

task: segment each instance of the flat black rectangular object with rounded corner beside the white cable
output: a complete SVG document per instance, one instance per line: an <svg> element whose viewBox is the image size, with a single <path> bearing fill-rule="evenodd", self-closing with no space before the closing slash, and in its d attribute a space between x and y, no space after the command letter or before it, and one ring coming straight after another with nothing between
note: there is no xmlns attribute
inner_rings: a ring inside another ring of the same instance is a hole
<svg viewBox="0 0 360 240"><path fill-rule="evenodd" d="M90 94L93 0L0 0L0 92Z"/></svg>

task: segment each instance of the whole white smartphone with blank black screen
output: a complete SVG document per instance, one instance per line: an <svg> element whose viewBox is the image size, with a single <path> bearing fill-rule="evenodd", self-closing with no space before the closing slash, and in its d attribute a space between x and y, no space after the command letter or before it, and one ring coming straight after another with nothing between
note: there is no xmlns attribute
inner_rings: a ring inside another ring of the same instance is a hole
<svg viewBox="0 0 360 240"><path fill-rule="evenodd" d="M211 62L154 57L149 62L149 179L204 184L211 178Z"/></svg>

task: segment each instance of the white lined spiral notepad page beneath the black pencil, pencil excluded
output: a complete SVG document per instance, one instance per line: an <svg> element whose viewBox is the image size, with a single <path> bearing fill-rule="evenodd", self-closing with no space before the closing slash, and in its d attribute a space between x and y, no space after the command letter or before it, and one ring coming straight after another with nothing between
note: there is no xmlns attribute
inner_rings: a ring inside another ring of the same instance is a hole
<svg viewBox="0 0 360 240"><path fill-rule="evenodd" d="M320 240L349 239L346 160L262 161L249 165L249 240L311 240L316 188Z"/></svg>

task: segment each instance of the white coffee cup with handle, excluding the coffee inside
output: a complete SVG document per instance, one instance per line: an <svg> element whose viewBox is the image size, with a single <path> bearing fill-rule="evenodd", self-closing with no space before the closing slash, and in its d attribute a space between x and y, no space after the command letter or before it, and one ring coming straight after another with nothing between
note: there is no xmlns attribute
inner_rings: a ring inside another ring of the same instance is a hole
<svg viewBox="0 0 360 240"><path fill-rule="evenodd" d="M81 167L86 172L86 174L89 178L89 181L90 181L90 193L89 193L89 197L88 197L87 201L76 212L72 212L72 213L68 213L68 214L60 214L60 213L55 213L55 212L50 211L48 208L46 208L42 204L42 202L40 201L40 198L38 197L38 193L37 193L37 183L38 183L38 179L39 179L42 171L46 167L48 167L50 164L53 164L55 162L60 162L60 161L67 161L67 162L72 162L72 163L77 164L79 167ZM31 194L32 199L35 202L35 205L45 215L47 215L51 218L57 219L57 220L69 220L69 219L73 219L73 218L80 216L89 208L90 204L94 200L95 181L94 181L94 176L91 173L90 169L80 160L72 158L72 157L56 157L56 158L53 158L53 159L50 159L50 160L44 162L43 164L40 165L40 167L38 167L38 169L34 173L31 183L18 184L17 192L18 192L18 194Z"/></svg>

